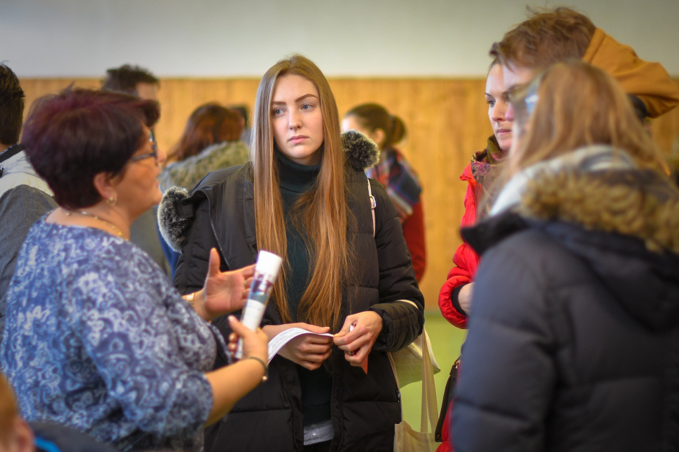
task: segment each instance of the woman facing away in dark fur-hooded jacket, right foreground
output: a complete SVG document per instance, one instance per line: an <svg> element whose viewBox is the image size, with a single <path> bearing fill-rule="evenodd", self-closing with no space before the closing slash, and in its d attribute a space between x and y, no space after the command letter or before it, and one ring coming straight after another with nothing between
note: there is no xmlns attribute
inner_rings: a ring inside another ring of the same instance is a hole
<svg viewBox="0 0 679 452"><path fill-rule="evenodd" d="M451 437L468 451L679 444L679 191L622 87L573 60L514 93Z"/></svg>

